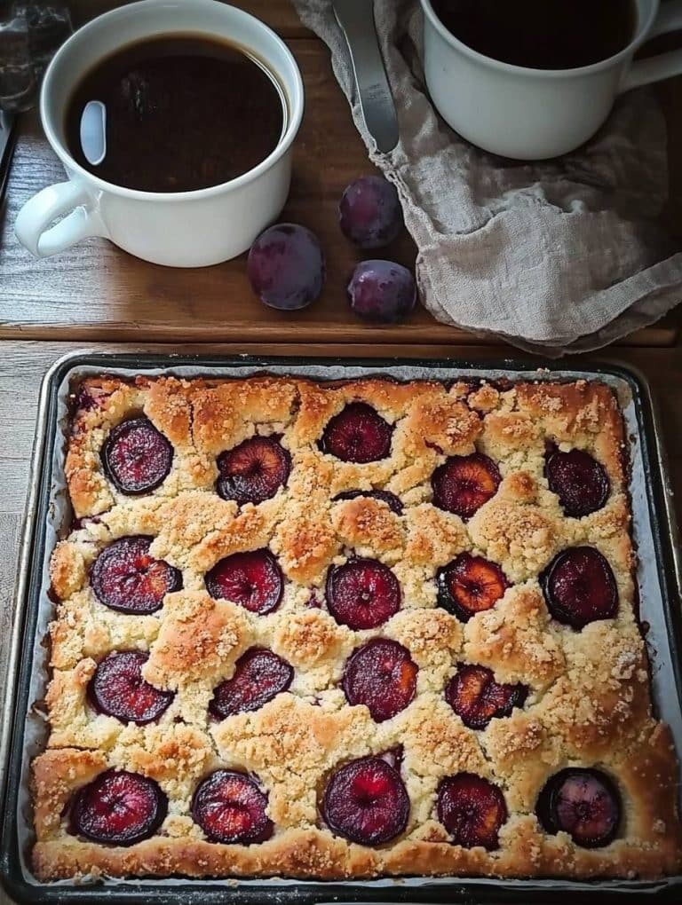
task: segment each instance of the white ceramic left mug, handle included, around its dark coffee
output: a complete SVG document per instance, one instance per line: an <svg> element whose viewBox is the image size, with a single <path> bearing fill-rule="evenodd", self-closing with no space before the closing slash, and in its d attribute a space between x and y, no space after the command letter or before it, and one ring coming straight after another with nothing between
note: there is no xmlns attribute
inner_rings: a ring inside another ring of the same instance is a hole
<svg viewBox="0 0 682 905"><path fill-rule="evenodd" d="M283 136L261 164L220 186L167 193L114 186L93 176L69 153L65 107L82 76L102 57L125 44L169 33L223 38L263 60L285 95ZM143 0L103 14L72 34L45 73L40 113L69 181L44 188L19 212L14 230L29 252L43 258L99 235L146 261L203 267L245 252L282 211L291 181L293 139L303 118L303 81L286 44L254 16L216 0ZM51 225L60 216L62 220Z"/></svg>

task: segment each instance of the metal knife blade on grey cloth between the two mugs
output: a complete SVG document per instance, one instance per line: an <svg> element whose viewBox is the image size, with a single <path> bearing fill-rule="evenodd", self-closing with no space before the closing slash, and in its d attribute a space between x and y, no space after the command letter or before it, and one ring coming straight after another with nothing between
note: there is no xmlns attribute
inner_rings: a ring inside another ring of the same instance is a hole
<svg viewBox="0 0 682 905"><path fill-rule="evenodd" d="M398 115L379 50L372 0L333 0L336 21L345 35L360 109L377 148L386 154L398 144Z"/></svg>

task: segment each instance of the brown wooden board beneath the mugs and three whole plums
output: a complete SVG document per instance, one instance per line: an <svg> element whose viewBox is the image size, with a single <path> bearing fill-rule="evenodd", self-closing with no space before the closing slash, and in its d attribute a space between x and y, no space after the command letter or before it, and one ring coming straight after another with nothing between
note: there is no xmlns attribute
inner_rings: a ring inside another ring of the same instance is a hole
<svg viewBox="0 0 682 905"><path fill-rule="evenodd" d="M80 24L114 5L115 0L76 0L74 21ZM0 214L0 338L480 342L462 330L437 324L424 309L406 324L386 327L368 326L351 313L345 286L360 254L341 236L337 205L353 178L371 172L366 149L331 73L326 47L299 24L288 0L245 0L240 5L285 36L303 71L306 116L283 219L310 226L322 240L328 270L322 298L294 315L266 309L248 285L244 257L197 271L174 270L141 262L104 240L92 239L69 252L34 261L14 237L14 218L31 195L62 181L64 174L33 113L21 123L6 211ZM414 245L405 236L387 256L412 266ZM680 318L670 315L639 330L625 344L672 345Z"/></svg>

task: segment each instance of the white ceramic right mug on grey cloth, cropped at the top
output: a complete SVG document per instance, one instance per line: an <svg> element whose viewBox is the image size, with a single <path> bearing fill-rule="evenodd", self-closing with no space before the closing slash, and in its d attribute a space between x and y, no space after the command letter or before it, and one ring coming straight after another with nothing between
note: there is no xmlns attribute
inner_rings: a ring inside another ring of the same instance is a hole
<svg viewBox="0 0 682 905"><path fill-rule="evenodd" d="M431 0L421 5L432 100L463 138L503 157L542 160L579 148L607 119L621 91L682 72L682 50L632 61L649 38L682 28L682 0L662 9L659 0L636 0L638 24L627 47L608 60L563 70L486 57L447 31Z"/></svg>

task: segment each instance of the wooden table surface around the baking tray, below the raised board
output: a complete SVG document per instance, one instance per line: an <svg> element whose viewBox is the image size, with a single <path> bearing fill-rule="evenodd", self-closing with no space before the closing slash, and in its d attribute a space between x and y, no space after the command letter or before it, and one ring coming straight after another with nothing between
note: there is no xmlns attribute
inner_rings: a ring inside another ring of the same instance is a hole
<svg viewBox="0 0 682 905"><path fill-rule="evenodd" d="M34 441L34 422L38 395L43 374L53 362L76 348L78 343L25 342L5 340L0 345L0 698L5 693L5 667L7 639L10 635L13 614L14 581L19 548L19 532L24 513L28 469ZM385 356L416 358L449 357L480 358L499 361L504 348L440 345L392 344L382 348L365 343L358 345L305 343L283 347L279 344L195 346L122 346L99 345L104 351L135 351L145 349L162 353L203 353L227 357L240 353L262 355L294 354L302 356L329 356L332 359L371 357L378 353ZM589 367L597 359L582 357L579 363ZM670 459L670 472L676 491L677 518L682 523L682 406L679 405L679 388L682 386L682 356L678 349L622 349L620 357L602 357L601 361L614 361L639 368L650 382L661 411L665 441ZM0 890L0 905L11 905Z"/></svg>

